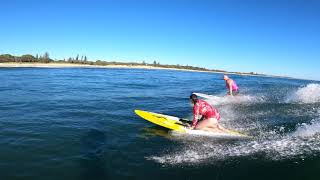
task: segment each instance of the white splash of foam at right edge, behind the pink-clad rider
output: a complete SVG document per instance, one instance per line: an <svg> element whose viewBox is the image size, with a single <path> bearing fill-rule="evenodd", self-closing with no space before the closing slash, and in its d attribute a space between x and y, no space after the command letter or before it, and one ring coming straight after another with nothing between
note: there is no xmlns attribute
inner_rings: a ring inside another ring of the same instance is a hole
<svg viewBox="0 0 320 180"><path fill-rule="evenodd" d="M316 103L320 102L320 84L308 84L289 95L287 102Z"/></svg>

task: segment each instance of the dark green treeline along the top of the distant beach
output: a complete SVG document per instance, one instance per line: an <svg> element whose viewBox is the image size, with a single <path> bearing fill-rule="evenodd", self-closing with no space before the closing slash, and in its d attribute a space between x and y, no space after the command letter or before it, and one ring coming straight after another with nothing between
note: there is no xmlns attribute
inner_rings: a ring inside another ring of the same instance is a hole
<svg viewBox="0 0 320 180"><path fill-rule="evenodd" d="M125 66L152 66L152 67L161 67L161 68L176 68L176 69L186 69L186 70L197 70L197 71L211 71L211 72L223 72L228 73L224 70L212 70L202 67L194 67L189 65L168 65L168 64L160 64L160 62L153 61L153 63L146 63L142 61L141 63L137 62L115 62L115 61L89 61L87 56L79 56L69 57L68 59L63 60L53 60L50 58L49 53L46 52L43 55L33 56L31 54L25 54L22 56L13 56L11 54L0 54L0 63L5 62L15 62L15 63L71 63L71 64L86 64L86 65L99 65L99 66L108 66L108 65L125 65ZM251 74L258 75L257 73L241 73L241 72L229 72L236 74ZM259 74L261 75L261 74Z"/></svg>

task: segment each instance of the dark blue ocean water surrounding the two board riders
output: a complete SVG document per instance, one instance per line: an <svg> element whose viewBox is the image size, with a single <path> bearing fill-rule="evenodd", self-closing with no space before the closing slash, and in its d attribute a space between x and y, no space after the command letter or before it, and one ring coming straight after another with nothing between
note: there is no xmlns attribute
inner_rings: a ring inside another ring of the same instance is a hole
<svg viewBox="0 0 320 180"><path fill-rule="evenodd" d="M100 68L0 69L0 179L319 179L320 82ZM191 92L254 136L179 135L134 109L191 118Z"/></svg>

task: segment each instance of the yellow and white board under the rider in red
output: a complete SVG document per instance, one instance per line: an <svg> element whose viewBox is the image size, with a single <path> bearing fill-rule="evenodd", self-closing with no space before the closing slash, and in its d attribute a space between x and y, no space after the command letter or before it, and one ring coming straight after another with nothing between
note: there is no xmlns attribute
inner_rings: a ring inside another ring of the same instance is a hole
<svg viewBox="0 0 320 180"><path fill-rule="evenodd" d="M158 113L142 111L142 110L135 110L135 113L141 118L149 122L152 122L159 126L162 126L167 129L180 132L180 133L213 136L213 137L219 137L219 138L250 138L250 136L234 130L227 130L227 132L223 132L223 133L209 132L209 131L202 131L202 130L191 130L187 128L188 127L187 123L180 121L180 118L174 117L174 116L158 114Z"/></svg>

